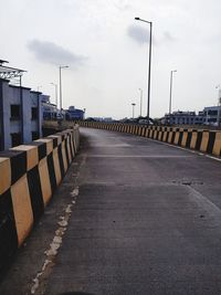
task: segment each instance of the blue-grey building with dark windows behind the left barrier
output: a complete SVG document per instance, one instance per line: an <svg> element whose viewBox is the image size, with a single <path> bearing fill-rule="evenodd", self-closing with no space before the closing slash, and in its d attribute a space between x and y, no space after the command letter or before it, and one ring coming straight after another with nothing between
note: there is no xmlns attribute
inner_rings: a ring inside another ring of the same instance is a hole
<svg viewBox="0 0 221 295"><path fill-rule="evenodd" d="M0 150L42 135L41 93L22 86L23 70L0 60Z"/></svg>

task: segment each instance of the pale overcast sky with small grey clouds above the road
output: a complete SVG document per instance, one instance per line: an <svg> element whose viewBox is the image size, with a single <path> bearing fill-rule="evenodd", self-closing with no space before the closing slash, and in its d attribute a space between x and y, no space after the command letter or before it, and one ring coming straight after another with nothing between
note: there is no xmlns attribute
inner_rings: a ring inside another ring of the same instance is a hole
<svg viewBox="0 0 221 295"><path fill-rule="evenodd" d="M150 116L215 105L221 84L220 0L0 0L0 59L28 71L25 86L51 95L62 70L63 106L86 116L146 114L149 25L152 21Z"/></svg>

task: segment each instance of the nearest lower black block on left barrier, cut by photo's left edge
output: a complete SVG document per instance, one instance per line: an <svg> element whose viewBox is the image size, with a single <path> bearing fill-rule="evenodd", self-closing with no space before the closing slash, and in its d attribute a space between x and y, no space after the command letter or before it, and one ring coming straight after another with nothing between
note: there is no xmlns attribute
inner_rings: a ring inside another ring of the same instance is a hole
<svg viewBox="0 0 221 295"><path fill-rule="evenodd" d="M0 196L0 273L18 249L18 236L10 190Z"/></svg>

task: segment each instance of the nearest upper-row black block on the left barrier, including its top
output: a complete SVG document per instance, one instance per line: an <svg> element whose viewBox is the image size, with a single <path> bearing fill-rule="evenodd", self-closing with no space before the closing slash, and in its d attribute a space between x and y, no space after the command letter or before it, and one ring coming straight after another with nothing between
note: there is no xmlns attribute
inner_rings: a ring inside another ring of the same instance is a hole
<svg viewBox="0 0 221 295"><path fill-rule="evenodd" d="M27 152L19 150L6 150L0 152L0 157L10 158L11 185L27 172Z"/></svg>

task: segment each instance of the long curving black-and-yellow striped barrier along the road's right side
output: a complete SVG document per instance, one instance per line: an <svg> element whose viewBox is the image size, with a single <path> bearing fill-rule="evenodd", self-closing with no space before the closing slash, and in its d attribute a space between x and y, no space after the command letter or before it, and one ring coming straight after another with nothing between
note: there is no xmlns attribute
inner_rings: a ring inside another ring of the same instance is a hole
<svg viewBox="0 0 221 295"><path fill-rule="evenodd" d="M127 133L160 140L170 145L221 156L221 130L203 130L164 126L141 126L137 124L118 124L101 122L77 122L82 127Z"/></svg>

